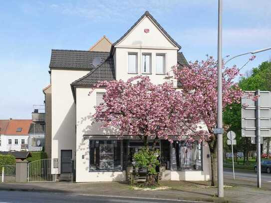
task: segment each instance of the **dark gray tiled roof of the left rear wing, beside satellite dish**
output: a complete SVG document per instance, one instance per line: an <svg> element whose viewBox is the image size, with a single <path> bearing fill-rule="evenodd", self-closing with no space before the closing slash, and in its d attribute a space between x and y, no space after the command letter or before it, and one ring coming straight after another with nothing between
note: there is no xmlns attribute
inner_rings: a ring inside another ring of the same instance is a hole
<svg viewBox="0 0 271 203"><path fill-rule="evenodd" d="M49 68L90 70L95 68L92 61L96 56L103 62L109 52L52 49Z"/></svg>

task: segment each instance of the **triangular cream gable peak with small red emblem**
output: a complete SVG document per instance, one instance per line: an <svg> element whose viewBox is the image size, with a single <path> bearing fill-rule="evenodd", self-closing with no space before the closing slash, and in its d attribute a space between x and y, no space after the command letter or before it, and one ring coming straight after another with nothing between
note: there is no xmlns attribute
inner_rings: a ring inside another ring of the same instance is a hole
<svg viewBox="0 0 271 203"><path fill-rule="evenodd" d="M148 11L112 46L177 50L181 48Z"/></svg>

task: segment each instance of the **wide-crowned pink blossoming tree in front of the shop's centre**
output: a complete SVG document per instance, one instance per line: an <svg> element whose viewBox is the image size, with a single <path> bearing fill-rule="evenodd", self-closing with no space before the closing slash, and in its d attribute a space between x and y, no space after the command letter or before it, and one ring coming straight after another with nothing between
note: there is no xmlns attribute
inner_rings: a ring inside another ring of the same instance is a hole
<svg viewBox="0 0 271 203"><path fill-rule="evenodd" d="M97 84L101 86L106 89L104 103L96 107L93 116L102 127L115 126L121 136L138 136L146 148L152 142L152 151L158 139L172 142L172 136L181 140L191 134L189 140L193 141L194 137L204 136L201 131L191 133L197 128L192 120L200 118L192 116L198 110L190 104L194 99L186 99L171 82L155 85L147 76L136 76L127 82L102 81ZM153 174L147 176L148 181L148 186L153 184Z"/></svg>

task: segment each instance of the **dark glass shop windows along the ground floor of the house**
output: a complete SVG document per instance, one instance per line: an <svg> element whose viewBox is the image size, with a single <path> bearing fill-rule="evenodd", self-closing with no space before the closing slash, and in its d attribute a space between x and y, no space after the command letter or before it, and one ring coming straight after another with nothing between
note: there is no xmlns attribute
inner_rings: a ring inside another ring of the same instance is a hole
<svg viewBox="0 0 271 203"><path fill-rule="evenodd" d="M152 147L152 142L149 143ZM133 164L134 153L144 148L139 140L90 140L89 141L89 171L122 171ZM158 157L161 166L166 170L202 170L202 145L197 141L188 143L167 140L157 142L156 149L161 154ZM145 172L146 169L136 169Z"/></svg>

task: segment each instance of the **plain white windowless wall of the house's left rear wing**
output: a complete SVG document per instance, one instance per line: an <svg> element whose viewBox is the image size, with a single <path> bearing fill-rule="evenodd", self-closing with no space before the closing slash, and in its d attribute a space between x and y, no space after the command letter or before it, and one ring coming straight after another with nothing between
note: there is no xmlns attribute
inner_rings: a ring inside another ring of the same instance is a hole
<svg viewBox="0 0 271 203"><path fill-rule="evenodd" d="M89 71L51 70L52 91L52 154L58 158L60 173L60 150L72 150L75 158L76 149L76 110L70 84L86 75Z"/></svg>

